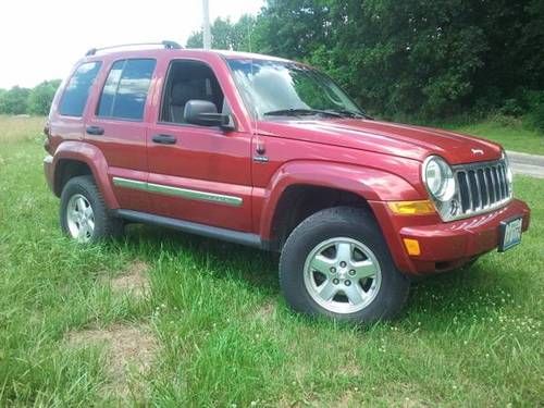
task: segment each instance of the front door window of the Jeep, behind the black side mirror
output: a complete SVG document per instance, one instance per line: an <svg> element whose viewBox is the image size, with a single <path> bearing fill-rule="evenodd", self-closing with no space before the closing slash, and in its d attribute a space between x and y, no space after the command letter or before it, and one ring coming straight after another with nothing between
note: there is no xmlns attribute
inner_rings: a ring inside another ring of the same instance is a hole
<svg viewBox="0 0 544 408"><path fill-rule="evenodd" d="M230 111L210 66L193 60L172 61L163 89L161 122L187 123L185 106L189 100L212 102L218 113Z"/></svg>

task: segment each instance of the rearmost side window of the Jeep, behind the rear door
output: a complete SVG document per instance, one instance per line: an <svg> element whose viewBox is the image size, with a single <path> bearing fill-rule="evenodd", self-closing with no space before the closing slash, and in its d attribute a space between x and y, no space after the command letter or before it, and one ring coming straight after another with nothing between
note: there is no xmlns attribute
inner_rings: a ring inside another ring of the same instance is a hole
<svg viewBox="0 0 544 408"><path fill-rule="evenodd" d="M75 71L62 95L59 112L65 116L82 116L90 87L100 71L101 62L86 62Z"/></svg>

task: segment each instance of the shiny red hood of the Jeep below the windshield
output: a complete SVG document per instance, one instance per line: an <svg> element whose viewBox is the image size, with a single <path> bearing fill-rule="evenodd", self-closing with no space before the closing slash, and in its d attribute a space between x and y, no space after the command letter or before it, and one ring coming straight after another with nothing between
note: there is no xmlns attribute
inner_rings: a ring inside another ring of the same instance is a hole
<svg viewBox="0 0 544 408"><path fill-rule="evenodd" d="M499 145L430 127L372 120L282 120L258 124L262 135L393 154L423 161L438 154L450 164L497 160Z"/></svg>

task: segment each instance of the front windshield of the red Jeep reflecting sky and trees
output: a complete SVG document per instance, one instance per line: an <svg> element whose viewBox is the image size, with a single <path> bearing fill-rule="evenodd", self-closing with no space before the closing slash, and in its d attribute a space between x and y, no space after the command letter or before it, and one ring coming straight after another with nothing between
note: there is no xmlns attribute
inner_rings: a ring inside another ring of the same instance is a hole
<svg viewBox="0 0 544 408"><path fill-rule="evenodd" d="M234 81L256 118L363 113L326 75L283 61L228 60Z"/></svg>

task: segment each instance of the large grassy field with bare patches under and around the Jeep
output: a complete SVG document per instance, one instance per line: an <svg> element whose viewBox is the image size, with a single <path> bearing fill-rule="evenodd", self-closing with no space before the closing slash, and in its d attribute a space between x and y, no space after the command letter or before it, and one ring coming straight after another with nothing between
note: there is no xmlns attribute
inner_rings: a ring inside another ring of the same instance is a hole
<svg viewBox="0 0 544 408"><path fill-rule="evenodd" d="M521 246L415 284L399 320L363 329L289 312L276 261L252 249L144 226L71 243L42 176L41 123L7 143L2 121L0 406L543 404L542 181L516 180L533 210ZM109 284L135 260L149 265L143 298ZM114 324L151 327L158 344L124 399L104 393L106 346L66 342Z"/></svg>

